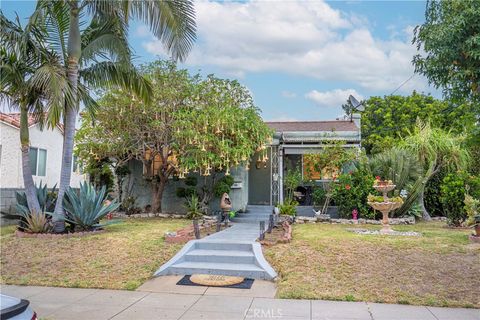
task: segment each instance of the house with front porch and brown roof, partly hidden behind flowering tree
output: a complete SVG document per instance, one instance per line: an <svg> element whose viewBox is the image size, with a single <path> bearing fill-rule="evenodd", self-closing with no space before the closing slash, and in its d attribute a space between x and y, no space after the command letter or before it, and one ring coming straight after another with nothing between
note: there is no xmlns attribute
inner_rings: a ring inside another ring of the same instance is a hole
<svg viewBox="0 0 480 320"><path fill-rule="evenodd" d="M231 170L235 184L230 192L234 210L243 210L247 204L274 205L283 202L283 177L287 169L304 171L303 155L317 153L328 140L344 141L346 148L360 148L360 118L353 121L292 121L266 122L275 130L272 141L265 150L251 159L249 170L238 167ZM137 198L137 205L145 207L151 202L149 182L142 178L143 167L140 161L130 163L131 194ZM199 181L202 181L199 177ZM321 176L319 183L329 180ZM163 211L185 212L183 201L176 197L175 190L183 186L182 180L171 179L163 197ZM217 209L217 202L211 206ZM311 203L303 203L305 212L310 213Z"/></svg>

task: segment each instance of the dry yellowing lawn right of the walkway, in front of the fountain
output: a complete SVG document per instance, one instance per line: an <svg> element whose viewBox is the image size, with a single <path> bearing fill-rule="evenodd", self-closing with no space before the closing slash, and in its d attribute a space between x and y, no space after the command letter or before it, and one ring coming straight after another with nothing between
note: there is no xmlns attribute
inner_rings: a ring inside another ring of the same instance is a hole
<svg viewBox="0 0 480 320"><path fill-rule="evenodd" d="M278 297L480 307L480 245L444 223L394 226L422 237L358 235L352 225L295 225L265 249ZM378 229L379 226L360 226Z"/></svg>

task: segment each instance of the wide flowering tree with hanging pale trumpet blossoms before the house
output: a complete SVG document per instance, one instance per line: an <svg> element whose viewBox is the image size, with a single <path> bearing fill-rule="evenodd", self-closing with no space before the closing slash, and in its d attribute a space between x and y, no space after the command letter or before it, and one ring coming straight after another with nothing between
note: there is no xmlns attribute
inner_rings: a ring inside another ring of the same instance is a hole
<svg viewBox="0 0 480 320"><path fill-rule="evenodd" d="M142 67L153 84L151 104L124 91L100 100L95 120L86 117L77 134L77 154L85 160L112 159L121 166L137 159L152 185L152 211L161 212L172 175L198 172L211 179L202 202L213 194L215 173L246 164L262 148L270 130L247 89L236 81L202 80L170 62ZM93 121L92 121L93 120Z"/></svg>

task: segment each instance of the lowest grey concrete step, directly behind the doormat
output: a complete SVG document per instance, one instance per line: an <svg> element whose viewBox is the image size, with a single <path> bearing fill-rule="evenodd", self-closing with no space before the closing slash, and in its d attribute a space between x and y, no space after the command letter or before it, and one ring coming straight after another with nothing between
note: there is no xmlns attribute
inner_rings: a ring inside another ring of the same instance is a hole
<svg viewBox="0 0 480 320"><path fill-rule="evenodd" d="M269 279L268 274L254 264L209 263L185 261L170 267L170 274L219 274L253 279Z"/></svg>

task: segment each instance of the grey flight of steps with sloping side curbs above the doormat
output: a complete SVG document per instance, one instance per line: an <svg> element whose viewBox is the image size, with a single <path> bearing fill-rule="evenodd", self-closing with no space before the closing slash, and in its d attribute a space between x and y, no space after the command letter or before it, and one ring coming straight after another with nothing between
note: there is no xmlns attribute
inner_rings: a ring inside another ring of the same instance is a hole
<svg viewBox="0 0 480 320"><path fill-rule="evenodd" d="M263 257L259 243L225 242L207 238L188 242L155 272L155 276L192 274L218 274L263 280L273 280L277 276Z"/></svg>

